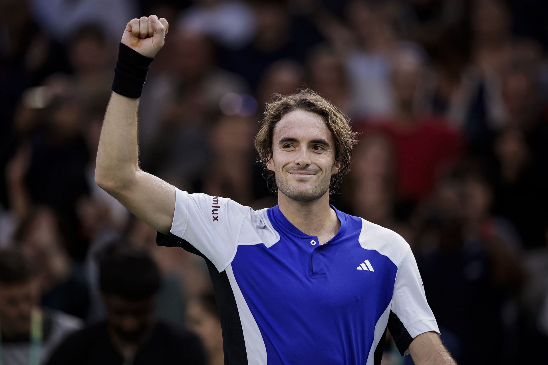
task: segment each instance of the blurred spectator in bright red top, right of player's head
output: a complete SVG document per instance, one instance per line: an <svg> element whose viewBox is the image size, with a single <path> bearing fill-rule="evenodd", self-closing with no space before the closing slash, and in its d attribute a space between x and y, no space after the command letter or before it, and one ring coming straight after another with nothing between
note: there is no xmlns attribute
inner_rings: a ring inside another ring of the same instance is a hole
<svg viewBox="0 0 548 365"><path fill-rule="evenodd" d="M461 137L448 122L425 112L426 66L420 54L401 50L392 70L396 108L393 118L373 122L396 149L398 194L418 201L461 153Z"/></svg>

